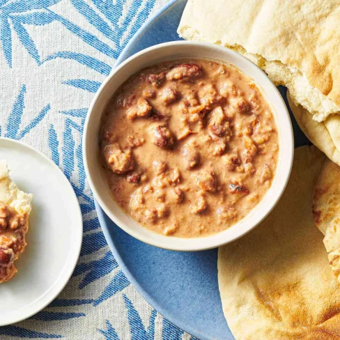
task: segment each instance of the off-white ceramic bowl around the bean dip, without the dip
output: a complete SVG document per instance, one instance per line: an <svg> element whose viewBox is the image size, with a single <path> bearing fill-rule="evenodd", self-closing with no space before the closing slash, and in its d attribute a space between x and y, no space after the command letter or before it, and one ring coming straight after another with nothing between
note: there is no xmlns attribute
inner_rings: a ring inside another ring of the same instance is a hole
<svg viewBox="0 0 340 340"><path fill-rule="evenodd" d="M169 59L180 59L197 57L201 59L220 59L227 63L232 63L240 70L245 72L254 79L256 84L263 91L263 95L271 103L275 114L277 127L279 129L279 162L272 186L250 213L240 222L234 224L226 231L221 233L202 237L202 238L176 238L171 236L153 233L143 226L134 222L134 220L125 215L125 213L116 205L109 192L106 180L102 176L98 163L98 131L100 126L100 117L105 109L107 102L114 94L118 86L120 86L130 75L138 72L142 68L149 65L167 61ZM244 56L220 47L218 45L203 42L187 42L176 41L166 42L164 44L155 45L134 54L129 59L118 65L111 72L105 82L100 86L98 93L93 98L86 123L84 127L83 153L84 166L88 183L102 209L107 215L118 225L143 242L150 245L161 247L164 249L180 250L180 251L196 251L210 249L225 245L228 242L240 238L248 231L258 225L274 208L279 201L281 194L284 192L288 178L291 173L293 164L293 130L291 119L279 91L272 84L265 73L254 63L246 59Z"/></svg>

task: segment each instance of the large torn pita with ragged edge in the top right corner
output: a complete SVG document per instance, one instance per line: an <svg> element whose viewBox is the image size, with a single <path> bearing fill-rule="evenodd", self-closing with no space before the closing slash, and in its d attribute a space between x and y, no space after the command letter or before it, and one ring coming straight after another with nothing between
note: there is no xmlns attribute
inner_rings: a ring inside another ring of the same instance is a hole
<svg viewBox="0 0 340 340"><path fill-rule="evenodd" d="M247 56L324 121L340 111L340 2L189 0L178 34Z"/></svg>

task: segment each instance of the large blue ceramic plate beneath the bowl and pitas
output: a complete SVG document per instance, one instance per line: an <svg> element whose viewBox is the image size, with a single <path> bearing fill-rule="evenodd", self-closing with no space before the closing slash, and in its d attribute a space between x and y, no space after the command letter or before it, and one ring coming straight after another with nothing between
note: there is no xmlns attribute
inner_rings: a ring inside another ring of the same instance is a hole
<svg viewBox="0 0 340 340"><path fill-rule="evenodd" d="M171 1L139 29L116 65L141 49L180 40L176 33L187 0ZM286 100L286 91L280 88ZM292 116L291 116L292 117ZM295 146L309 141L293 121ZM96 204L105 238L127 279L171 323L203 339L234 339L222 312L217 284L217 249L171 252L135 240Z"/></svg>

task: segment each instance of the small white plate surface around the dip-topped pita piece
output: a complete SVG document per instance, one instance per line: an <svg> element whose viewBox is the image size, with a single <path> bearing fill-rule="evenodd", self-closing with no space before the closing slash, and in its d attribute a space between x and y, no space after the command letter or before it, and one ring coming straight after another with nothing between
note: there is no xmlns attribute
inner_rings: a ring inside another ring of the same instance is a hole
<svg viewBox="0 0 340 340"><path fill-rule="evenodd" d="M20 190L33 194L25 252L17 274L0 284L0 326L36 314L65 287L82 246L82 212L59 167L19 141L0 138L0 159Z"/></svg>

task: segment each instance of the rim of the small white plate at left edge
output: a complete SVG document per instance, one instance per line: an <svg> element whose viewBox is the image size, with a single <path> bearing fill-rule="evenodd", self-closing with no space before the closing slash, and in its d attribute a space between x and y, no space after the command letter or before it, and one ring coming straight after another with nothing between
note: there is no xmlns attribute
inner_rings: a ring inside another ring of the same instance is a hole
<svg viewBox="0 0 340 340"><path fill-rule="evenodd" d="M1 145L1 142L3 141L8 144L17 144L18 146L22 148L31 150L31 152L38 154L39 157L42 157L43 160L45 160L52 167L54 167L54 169L56 169L57 173L61 175L61 177L68 183L70 189L72 190L72 197L73 199L75 199L75 202L77 202L77 209L75 209L75 214L77 213L78 215L77 217L79 218L80 224L79 224L79 235L77 237L78 244L73 245L72 243L73 247L77 246L77 249L74 250L74 255L73 255L74 260L70 261L70 258L68 259L68 262L63 267L63 270L59 273L59 277L56 279L54 284L50 286L48 291L46 291L38 300L36 300L36 302L33 302L33 304L29 304L29 306L23 307L22 309L17 311L17 314L19 314L19 316L17 318L13 317L13 320L7 320L4 323L2 323L0 320L0 327L6 326L6 325L13 325L13 323L19 323L20 321L26 320L27 318L30 318L31 316L37 314L39 311L47 307L47 305L50 304L61 293L61 291L63 291L63 288L65 288L66 284L68 284L68 281L70 281L70 278L72 277L72 274L75 271L75 266L78 263L80 251L82 249L82 240L83 240L82 210L80 209L79 201L77 199L77 195L75 194L75 190L73 190L73 187L70 181L68 180L68 178L65 176L65 173L63 173L63 171L61 171L61 169L49 157L47 157L47 155L42 153L40 150L37 150L33 146L30 146L29 144L26 144L22 141L17 141L16 139L0 137L0 145ZM73 240L73 241L76 241L76 240ZM57 284L59 284L59 286L57 286Z"/></svg>

